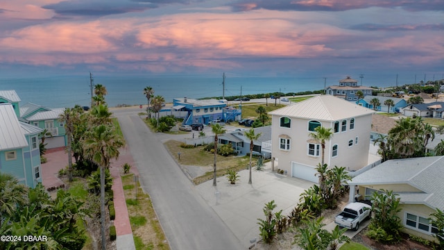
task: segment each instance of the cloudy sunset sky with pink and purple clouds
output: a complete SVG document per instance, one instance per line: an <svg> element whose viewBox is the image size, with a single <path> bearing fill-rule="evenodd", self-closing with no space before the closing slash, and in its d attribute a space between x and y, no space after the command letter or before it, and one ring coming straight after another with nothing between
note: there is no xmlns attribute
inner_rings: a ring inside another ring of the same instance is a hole
<svg viewBox="0 0 444 250"><path fill-rule="evenodd" d="M419 81L443 78L443 66L443 0L0 0L3 76Z"/></svg>

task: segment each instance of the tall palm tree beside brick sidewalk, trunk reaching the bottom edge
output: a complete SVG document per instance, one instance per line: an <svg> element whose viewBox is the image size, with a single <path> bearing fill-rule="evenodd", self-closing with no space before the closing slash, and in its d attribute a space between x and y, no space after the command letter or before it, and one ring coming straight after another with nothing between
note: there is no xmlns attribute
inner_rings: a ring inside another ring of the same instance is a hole
<svg viewBox="0 0 444 250"><path fill-rule="evenodd" d="M123 141L111 126L99 125L85 135L84 150L89 158L99 165L101 177L101 236L102 249L105 248L105 168L110 167L110 159L119 158L119 148Z"/></svg>

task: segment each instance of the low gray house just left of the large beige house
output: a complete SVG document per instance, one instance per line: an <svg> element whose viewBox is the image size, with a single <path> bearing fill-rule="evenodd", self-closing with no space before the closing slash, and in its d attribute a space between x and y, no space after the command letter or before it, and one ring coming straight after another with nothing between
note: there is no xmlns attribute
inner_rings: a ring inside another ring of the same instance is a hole
<svg viewBox="0 0 444 250"><path fill-rule="evenodd" d="M271 140L271 126L262 126L259 128L253 128L255 130L255 134L260 133L261 136L258 140L253 141L253 155L260 155L266 159L271 158L271 151L262 150L263 142L268 142ZM219 143L220 144L232 144L234 151L241 156L246 155L246 153L250 153L250 140L246 138L244 130L232 131L230 133L224 133L219 135Z"/></svg>

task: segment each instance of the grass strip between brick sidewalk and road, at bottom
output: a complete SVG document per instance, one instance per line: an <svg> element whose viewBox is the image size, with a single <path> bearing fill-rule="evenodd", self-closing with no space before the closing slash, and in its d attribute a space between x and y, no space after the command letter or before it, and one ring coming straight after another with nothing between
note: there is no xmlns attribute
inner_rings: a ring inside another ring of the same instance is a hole
<svg viewBox="0 0 444 250"><path fill-rule="evenodd" d="M123 186L134 185L133 176L134 174L122 176ZM140 185L137 185L137 200L134 199L134 188L123 190L123 193L126 203L130 205L128 206L128 215L136 249L170 249L149 195L143 192Z"/></svg>

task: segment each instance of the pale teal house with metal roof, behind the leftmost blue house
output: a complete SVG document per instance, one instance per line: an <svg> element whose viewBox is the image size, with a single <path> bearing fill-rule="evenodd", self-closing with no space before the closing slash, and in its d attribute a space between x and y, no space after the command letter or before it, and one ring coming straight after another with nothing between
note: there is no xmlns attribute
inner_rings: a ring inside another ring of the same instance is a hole
<svg viewBox="0 0 444 250"><path fill-rule="evenodd" d="M65 108L45 108L34 103L20 107L20 118L48 132L45 139L46 149L65 147L67 145L65 124L59 117ZM49 135L49 136L48 136Z"/></svg>

